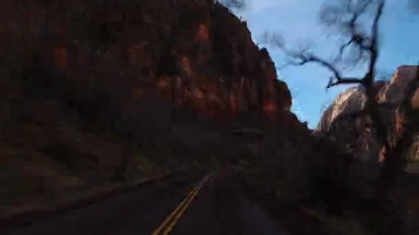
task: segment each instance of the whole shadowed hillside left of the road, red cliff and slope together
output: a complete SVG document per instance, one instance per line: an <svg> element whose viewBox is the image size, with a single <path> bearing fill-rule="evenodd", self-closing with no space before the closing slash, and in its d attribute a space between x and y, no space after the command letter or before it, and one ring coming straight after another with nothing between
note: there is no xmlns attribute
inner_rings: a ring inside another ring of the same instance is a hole
<svg viewBox="0 0 419 235"><path fill-rule="evenodd" d="M223 120L246 111L308 131L267 51L212 0L2 1L0 19L1 212L245 155Z"/></svg>

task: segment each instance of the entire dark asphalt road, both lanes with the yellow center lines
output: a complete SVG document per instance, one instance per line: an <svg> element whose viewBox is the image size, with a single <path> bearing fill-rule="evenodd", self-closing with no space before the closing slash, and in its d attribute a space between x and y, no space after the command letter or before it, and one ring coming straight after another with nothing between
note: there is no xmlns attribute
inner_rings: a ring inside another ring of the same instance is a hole
<svg viewBox="0 0 419 235"><path fill-rule="evenodd" d="M1 234L287 234L229 174L203 179L161 181Z"/></svg>

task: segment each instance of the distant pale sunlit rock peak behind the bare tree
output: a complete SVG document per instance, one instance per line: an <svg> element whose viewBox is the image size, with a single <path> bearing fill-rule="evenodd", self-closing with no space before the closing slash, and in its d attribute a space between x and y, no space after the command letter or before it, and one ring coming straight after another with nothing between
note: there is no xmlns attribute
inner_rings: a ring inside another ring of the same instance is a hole
<svg viewBox="0 0 419 235"><path fill-rule="evenodd" d="M397 132L398 116L396 110L405 99L409 82L416 78L416 66L400 66L389 81L378 81L374 84L375 98L380 106L389 139ZM416 91L419 93L419 91ZM416 93L411 98L415 107L418 99ZM327 108L318 123L318 131L339 138L349 152L365 160L382 161L380 144L371 118L362 112L366 96L364 87L351 87L341 93ZM400 118L399 118L400 119ZM416 150L417 151L417 150ZM416 152L415 152L416 153Z"/></svg>

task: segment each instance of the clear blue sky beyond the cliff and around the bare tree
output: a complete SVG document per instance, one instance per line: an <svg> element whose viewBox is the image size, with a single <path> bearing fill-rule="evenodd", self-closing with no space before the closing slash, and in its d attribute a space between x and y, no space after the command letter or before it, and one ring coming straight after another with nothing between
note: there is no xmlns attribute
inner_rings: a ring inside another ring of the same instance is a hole
<svg viewBox="0 0 419 235"><path fill-rule="evenodd" d="M247 21L252 37L260 46L267 47L277 66L285 63L280 49L263 45L261 35L265 30L280 33L289 47L307 43L319 56L336 52L330 30L318 23L318 10L325 0L247 0L249 8L240 12ZM413 65L419 61L419 14L413 15L407 8L408 0L387 0L380 21L381 54L378 70L393 74L400 65ZM416 44L416 45L415 45ZM362 67L345 75L363 75ZM287 67L278 71L278 78L285 80L293 96L292 111L309 127L315 128L320 115L338 93L347 89L339 86L325 90L329 71L318 65Z"/></svg>

